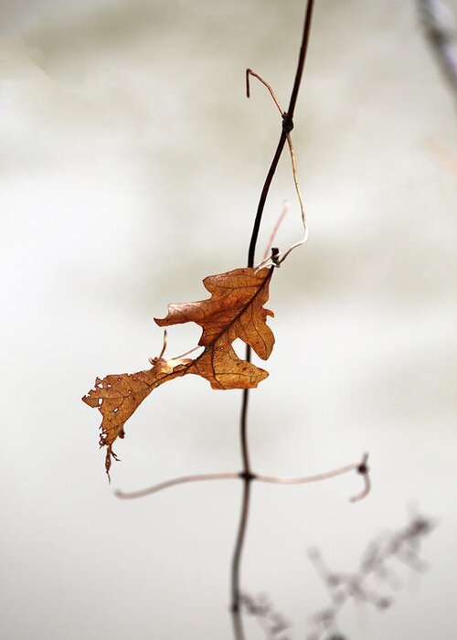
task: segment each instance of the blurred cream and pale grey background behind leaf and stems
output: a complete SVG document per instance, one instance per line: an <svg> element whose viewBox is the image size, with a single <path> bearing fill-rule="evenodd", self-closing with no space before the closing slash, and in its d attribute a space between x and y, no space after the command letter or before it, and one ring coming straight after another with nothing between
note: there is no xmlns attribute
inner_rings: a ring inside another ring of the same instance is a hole
<svg viewBox="0 0 457 640"><path fill-rule="evenodd" d="M455 0L449 0L455 12ZM148 367L154 316L244 266L287 103L300 0L1 0L2 636L228 640L237 482L121 502L174 475L238 470L241 392L197 377L154 391L108 485L96 375ZM320 0L292 133L310 237L275 273L270 377L250 399L254 470L304 475L370 452L356 475L254 485L243 589L304 640L328 602L307 558L355 571L419 509L429 571L395 603L348 604L351 640L446 640L457 624L455 101L414 2ZM300 237L284 154L259 258ZM197 326L169 332L169 356ZM384 589L381 584L381 591ZM389 593L391 593L388 590ZM248 640L264 637L256 620Z"/></svg>

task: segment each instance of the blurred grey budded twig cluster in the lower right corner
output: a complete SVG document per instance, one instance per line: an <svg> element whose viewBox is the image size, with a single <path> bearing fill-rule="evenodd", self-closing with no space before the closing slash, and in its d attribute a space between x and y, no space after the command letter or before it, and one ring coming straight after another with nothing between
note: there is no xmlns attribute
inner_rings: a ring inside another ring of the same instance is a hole
<svg viewBox="0 0 457 640"><path fill-rule="evenodd" d="M402 586L396 565L401 563L412 571L425 571L420 544L434 527L429 517L412 517L406 527L370 542L354 573L331 571L321 553L312 549L309 557L328 590L330 603L312 616L314 628L307 640L347 640L340 631L338 615L349 601L372 604L379 611L388 609L394 600L386 591L398 591ZM383 582L383 592L378 591L376 580Z"/></svg>

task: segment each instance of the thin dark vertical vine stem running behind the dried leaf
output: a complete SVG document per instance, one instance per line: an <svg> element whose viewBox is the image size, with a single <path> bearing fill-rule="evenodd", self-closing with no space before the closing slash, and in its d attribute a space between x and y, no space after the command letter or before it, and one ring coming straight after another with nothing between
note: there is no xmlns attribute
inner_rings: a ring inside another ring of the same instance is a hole
<svg viewBox="0 0 457 640"><path fill-rule="evenodd" d="M252 235L250 237L250 248L248 254L248 267L254 266L255 251L257 246L257 240L259 237L260 222L263 215L263 209L265 208L265 202L267 200L268 193L271 187L271 181L276 172L276 168L280 161L284 145L287 141L287 136L293 129L293 113L295 111L295 104L298 97L298 91L300 89L300 83L303 76L304 61L306 59L306 51L308 49L308 42L311 33L311 21L313 17L314 0L308 0L304 16L302 44L300 47L300 53L298 57L297 70L295 72L295 80L293 81L291 100L289 101L289 108L282 117L282 132L273 159L271 161L270 169L265 178L263 188L260 193L259 205L257 208L256 217L254 220L254 227L252 229ZM250 347L246 350L246 359L250 362ZM240 590L239 590L239 567L241 554L244 546L244 539L246 537L246 528L248 526L248 518L250 511L250 484L254 479L250 470L250 455L249 455L249 443L248 443L248 400L249 389L243 390L243 398L241 404L241 418L240 418L240 440L241 440L241 456L243 462L243 496L241 505L241 515L239 518L239 531L237 541L235 544L235 550L233 552L232 560L232 584L231 584L231 610L234 613L234 617L239 616L239 603L240 603ZM240 624L240 621L239 621Z"/></svg>

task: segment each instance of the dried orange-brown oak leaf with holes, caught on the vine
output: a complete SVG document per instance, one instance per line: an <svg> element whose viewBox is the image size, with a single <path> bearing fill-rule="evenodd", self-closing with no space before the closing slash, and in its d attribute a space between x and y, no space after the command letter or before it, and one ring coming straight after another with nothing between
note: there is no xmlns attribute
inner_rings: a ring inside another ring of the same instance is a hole
<svg viewBox="0 0 457 640"><path fill-rule="evenodd" d="M168 314L156 319L160 326L195 322L203 328L199 346L205 347L195 359L158 358L154 366L138 373L107 376L95 380L82 400L101 411L100 445L107 447L105 468L109 475L112 444L123 438L123 427L137 407L153 389L168 380L192 373L209 380L213 389L250 389L267 378L268 373L235 353L232 342L240 338L259 357L271 354L274 336L266 324L271 311L263 304L268 300L271 270L235 269L205 278L211 297L197 303L169 304Z"/></svg>

